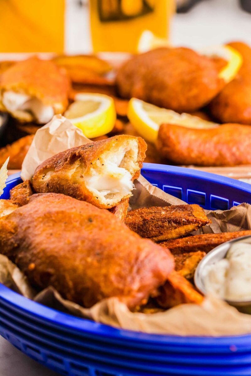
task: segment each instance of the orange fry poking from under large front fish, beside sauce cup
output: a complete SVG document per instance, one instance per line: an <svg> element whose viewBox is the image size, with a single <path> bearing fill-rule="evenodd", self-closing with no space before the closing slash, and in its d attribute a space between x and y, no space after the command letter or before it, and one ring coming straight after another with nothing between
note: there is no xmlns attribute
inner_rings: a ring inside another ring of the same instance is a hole
<svg viewBox="0 0 251 376"><path fill-rule="evenodd" d="M159 289L158 304L163 308L171 308L178 304L201 304L203 296L195 290L193 285L177 271L172 271L164 286Z"/></svg>

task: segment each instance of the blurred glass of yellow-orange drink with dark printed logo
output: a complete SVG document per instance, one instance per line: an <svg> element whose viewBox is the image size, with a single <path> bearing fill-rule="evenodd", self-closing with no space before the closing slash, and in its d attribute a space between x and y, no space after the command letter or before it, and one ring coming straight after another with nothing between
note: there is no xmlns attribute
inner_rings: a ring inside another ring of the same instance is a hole
<svg viewBox="0 0 251 376"><path fill-rule="evenodd" d="M137 52L146 29L168 38L173 0L90 0L91 37L94 52Z"/></svg>

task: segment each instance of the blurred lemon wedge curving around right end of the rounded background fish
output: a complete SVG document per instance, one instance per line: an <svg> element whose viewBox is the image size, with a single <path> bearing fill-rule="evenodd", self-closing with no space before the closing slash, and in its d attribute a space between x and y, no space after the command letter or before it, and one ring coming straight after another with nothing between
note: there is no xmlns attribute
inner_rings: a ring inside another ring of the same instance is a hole
<svg viewBox="0 0 251 376"><path fill-rule="evenodd" d="M208 47L200 50L199 53L209 57L217 56L227 61L227 65L219 73L219 77L224 79L226 83L234 79L242 65L242 55L239 51L227 45Z"/></svg>

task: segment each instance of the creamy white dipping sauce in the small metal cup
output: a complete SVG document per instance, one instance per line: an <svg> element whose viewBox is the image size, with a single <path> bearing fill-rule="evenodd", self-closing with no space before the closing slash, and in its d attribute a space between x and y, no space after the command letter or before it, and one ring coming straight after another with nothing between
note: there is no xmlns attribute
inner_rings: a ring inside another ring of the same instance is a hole
<svg viewBox="0 0 251 376"><path fill-rule="evenodd" d="M234 243L226 258L204 271L207 293L229 301L251 300L251 244Z"/></svg>

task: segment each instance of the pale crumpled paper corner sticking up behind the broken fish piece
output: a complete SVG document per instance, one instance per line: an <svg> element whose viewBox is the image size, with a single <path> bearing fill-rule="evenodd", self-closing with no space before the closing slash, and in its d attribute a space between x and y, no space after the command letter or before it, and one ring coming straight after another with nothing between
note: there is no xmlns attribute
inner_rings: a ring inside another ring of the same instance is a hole
<svg viewBox="0 0 251 376"><path fill-rule="evenodd" d="M30 180L36 168L46 159L71 147L91 142L70 120L62 115L54 115L49 123L35 133L22 164L21 178Z"/></svg>

